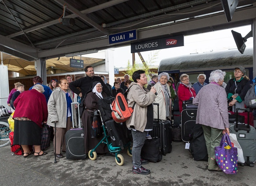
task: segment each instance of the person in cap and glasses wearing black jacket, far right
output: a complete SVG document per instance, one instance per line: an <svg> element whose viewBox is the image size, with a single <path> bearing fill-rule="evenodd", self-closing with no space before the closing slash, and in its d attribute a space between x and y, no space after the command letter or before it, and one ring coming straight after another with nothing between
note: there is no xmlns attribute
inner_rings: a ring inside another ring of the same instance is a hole
<svg viewBox="0 0 256 186"><path fill-rule="evenodd" d="M243 77L245 72L245 68L241 66L234 68L234 78L228 81L225 88L227 98L232 100L229 102L229 106L234 106L236 102L241 103L245 101L245 95L250 89L250 81Z"/></svg>

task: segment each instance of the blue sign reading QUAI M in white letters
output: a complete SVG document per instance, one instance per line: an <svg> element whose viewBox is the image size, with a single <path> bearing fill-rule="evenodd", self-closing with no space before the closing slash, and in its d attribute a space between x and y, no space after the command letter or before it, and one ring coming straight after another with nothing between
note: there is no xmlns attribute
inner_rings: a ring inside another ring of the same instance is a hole
<svg viewBox="0 0 256 186"><path fill-rule="evenodd" d="M123 43L131 40L137 39L137 30L129 30L117 34L111 34L108 36L108 42L109 44L114 43Z"/></svg>

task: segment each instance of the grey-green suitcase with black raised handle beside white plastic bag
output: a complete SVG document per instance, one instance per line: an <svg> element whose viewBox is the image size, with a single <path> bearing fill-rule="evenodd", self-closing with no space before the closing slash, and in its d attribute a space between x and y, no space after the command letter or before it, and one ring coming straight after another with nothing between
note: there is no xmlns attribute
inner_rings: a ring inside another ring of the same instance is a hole
<svg viewBox="0 0 256 186"><path fill-rule="evenodd" d="M249 120L249 108L236 108L236 116L238 116L238 111L247 111ZM256 161L256 130L251 125L238 124L238 117L236 118L236 123L230 123L229 132L236 134L237 141L243 150L243 157L245 158L245 163L242 165L248 165L253 167L253 163Z"/></svg>

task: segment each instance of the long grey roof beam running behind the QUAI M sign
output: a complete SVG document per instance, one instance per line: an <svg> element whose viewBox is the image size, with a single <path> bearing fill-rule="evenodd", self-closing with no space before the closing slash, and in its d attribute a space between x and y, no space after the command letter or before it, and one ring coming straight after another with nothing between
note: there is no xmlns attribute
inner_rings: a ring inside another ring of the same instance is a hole
<svg viewBox="0 0 256 186"><path fill-rule="evenodd" d="M201 18L195 18L187 21L181 21L178 23L173 23L169 25L159 26L150 29L138 30L138 38L139 39L152 39L154 37L167 36L170 34L182 34L186 33L186 35L195 34L195 32L199 33L200 29L206 31L206 28L211 31L213 27L219 29L227 29L235 27L236 24L241 26L248 24L248 21L256 19L256 6L248 7L245 9L236 10L233 15L232 21L227 23L226 17L224 13L219 13L215 15L209 15ZM117 46L126 46L130 43L122 43L109 45L108 37L96 39L92 41L87 41L85 43L69 45L57 49L45 50L42 52L38 52L38 57L49 57L51 56L64 56L66 53L78 52L83 50L91 50L91 49L107 49Z"/></svg>

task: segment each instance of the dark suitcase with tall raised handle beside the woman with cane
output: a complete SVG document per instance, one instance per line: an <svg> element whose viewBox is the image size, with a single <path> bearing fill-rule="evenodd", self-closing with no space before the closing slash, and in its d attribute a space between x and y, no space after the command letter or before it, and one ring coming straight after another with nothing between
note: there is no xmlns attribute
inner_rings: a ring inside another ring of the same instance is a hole
<svg viewBox="0 0 256 186"><path fill-rule="evenodd" d="M74 102L71 104L79 104ZM79 107L78 107L79 109ZM72 113L73 109L71 107ZM79 114L79 110L78 110ZM80 115L80 114L79 114ZM72 114L73 116L73 114ZM80 118L80 116L79 116ZM74 128L74 118L72 117L73 128L66 132L66 158L68 160L73 159L84 159L86 158L85 148L84 148L84 129L81 128L80 119L78 120L79 128Z"/></svg>

